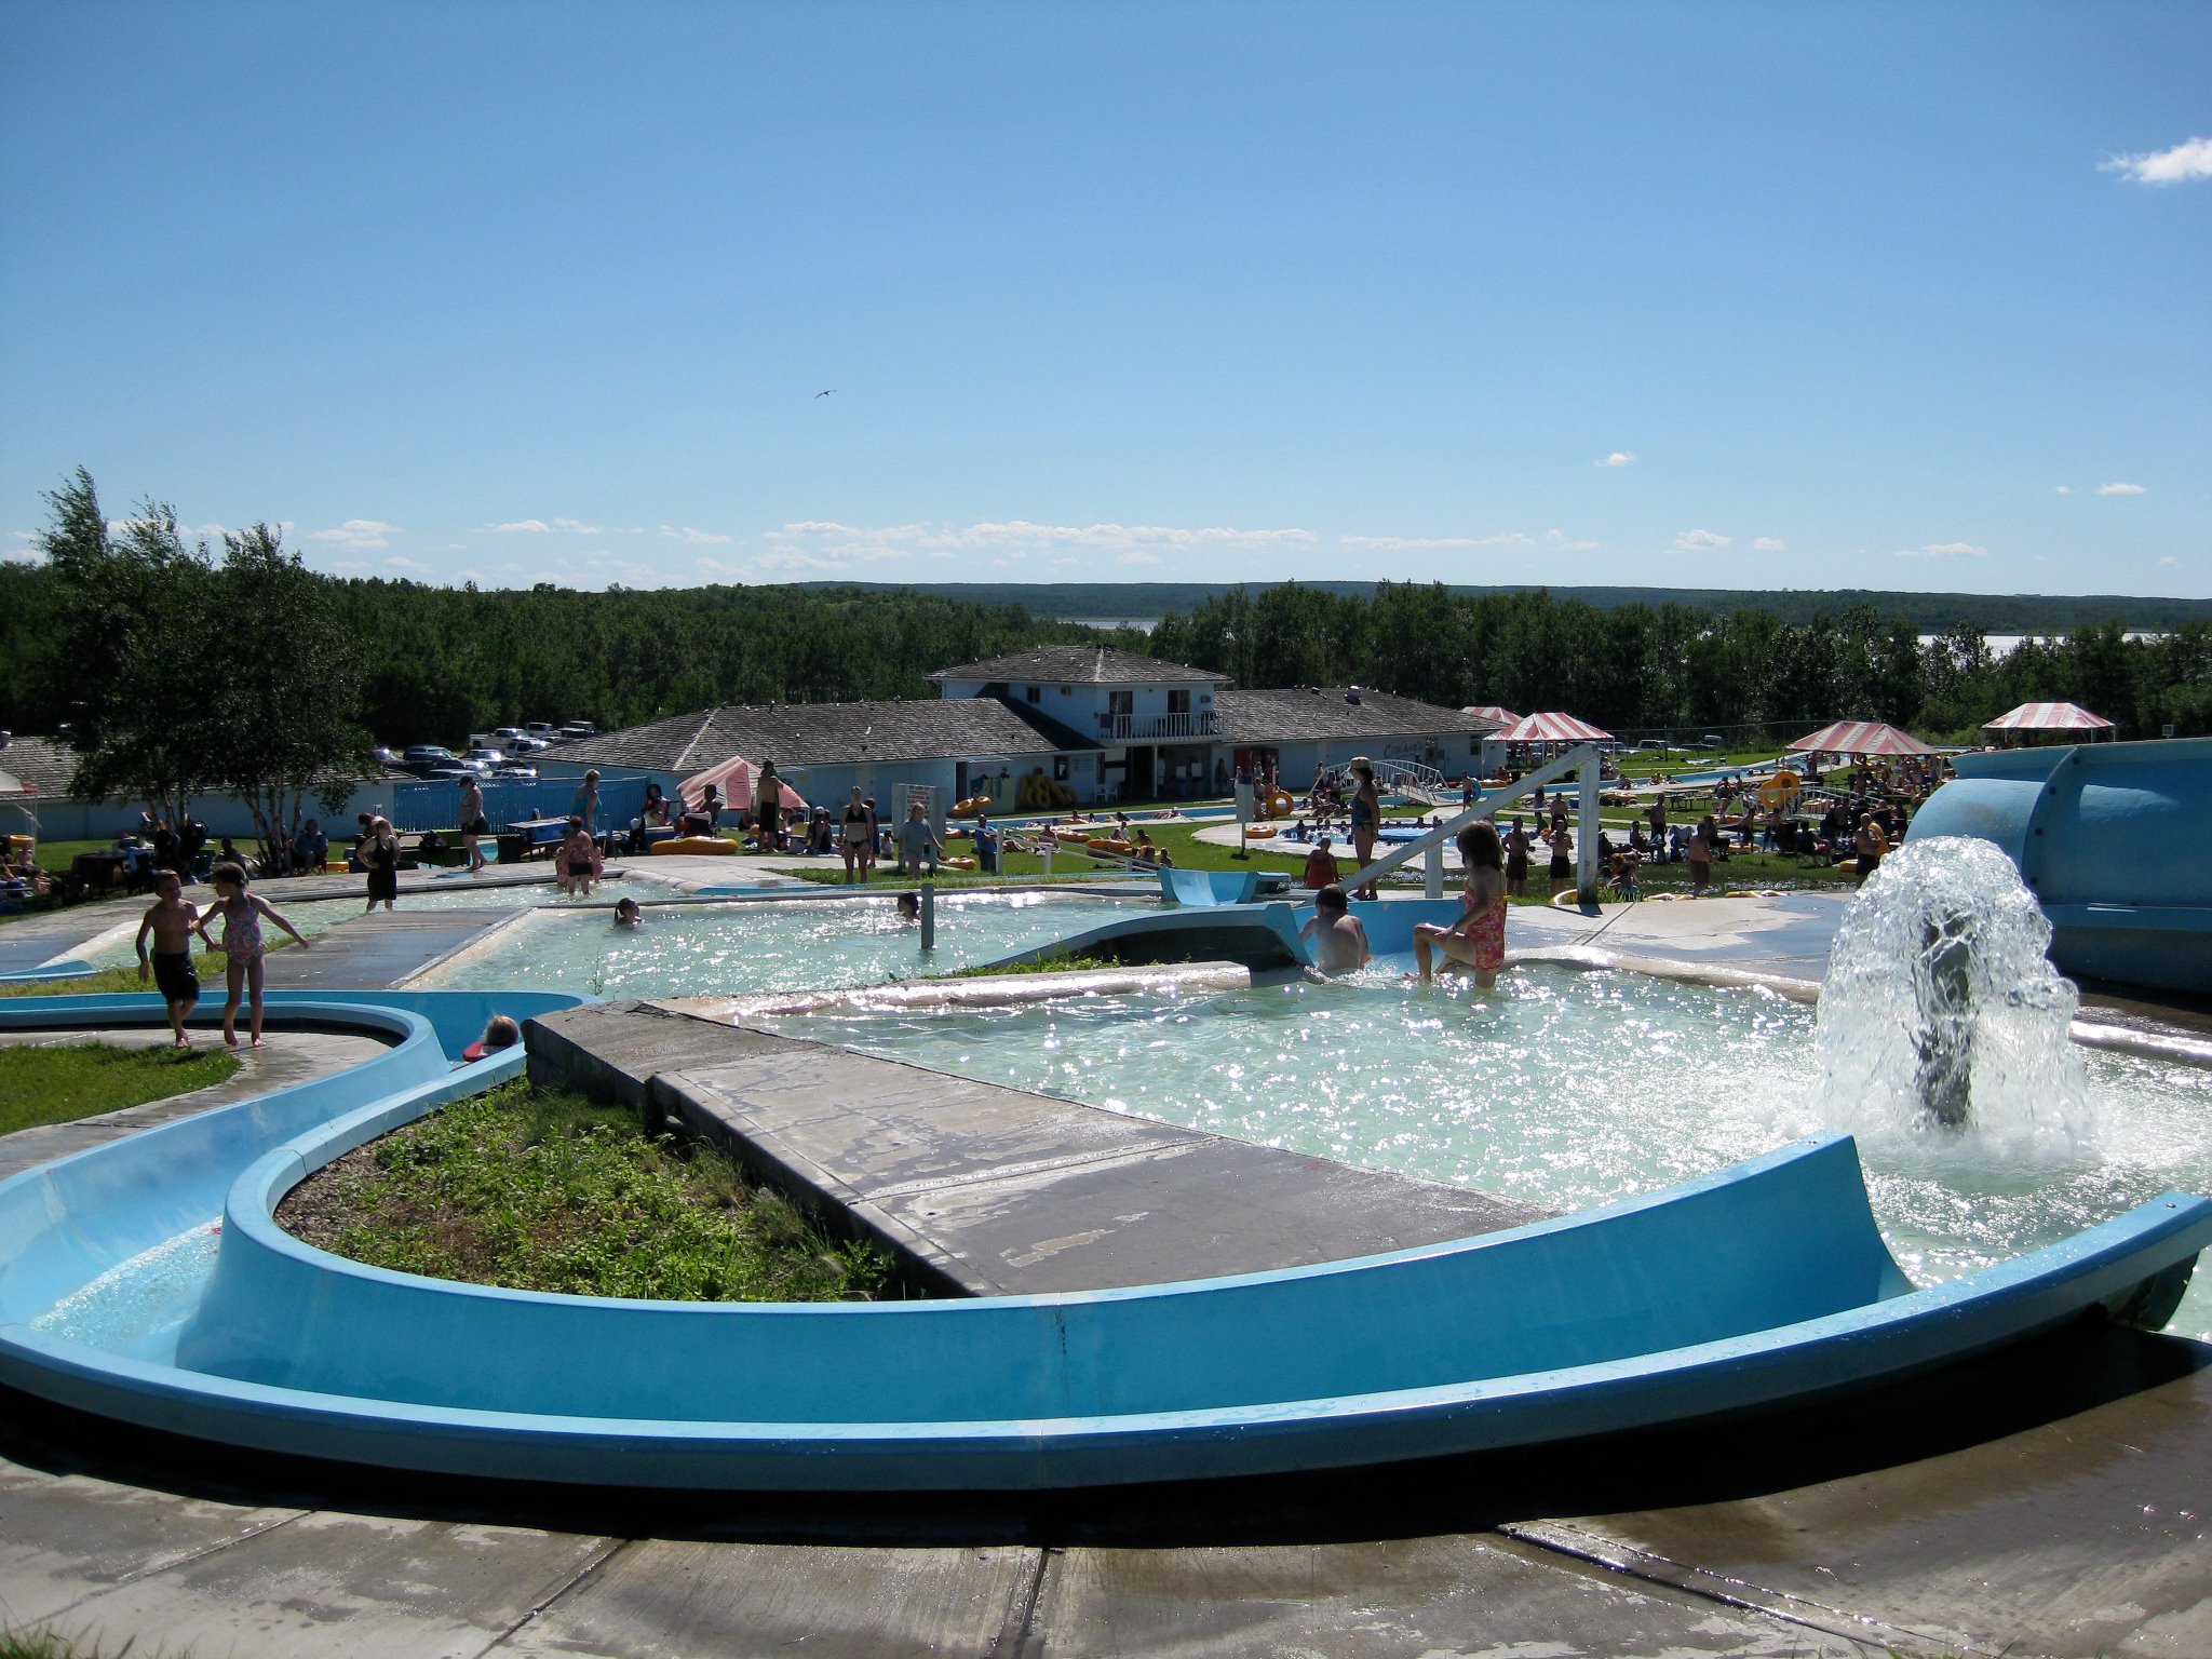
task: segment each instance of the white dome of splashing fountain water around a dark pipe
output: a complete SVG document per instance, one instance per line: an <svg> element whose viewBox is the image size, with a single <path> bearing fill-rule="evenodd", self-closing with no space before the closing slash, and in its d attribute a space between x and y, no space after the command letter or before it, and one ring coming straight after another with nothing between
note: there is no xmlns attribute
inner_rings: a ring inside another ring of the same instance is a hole
<svg viewBox="0 0 2212 1659"><path fill-rule="evenodd" d="M2070 1164L2097 1121L2051 967L2051 922L2002 849L1916 841L1836 931L1814 1031L1818 1110L1860 1141L1951 1161Z"/></svg>

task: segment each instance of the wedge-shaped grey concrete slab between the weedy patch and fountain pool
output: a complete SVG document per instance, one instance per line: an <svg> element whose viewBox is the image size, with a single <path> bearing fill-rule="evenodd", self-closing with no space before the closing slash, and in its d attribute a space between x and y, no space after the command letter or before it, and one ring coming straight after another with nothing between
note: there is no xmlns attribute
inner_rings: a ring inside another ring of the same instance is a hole
<svg viewBox="0 0 2212 1659"><path fill-rule="evenodd" d="M719 1002L719 1000L710 1000ZM896 1060L617 1002L533 1020L531 1077L613 1091L732 1146L909 1279L969 1296L1152 1285L1405 1250L1528 1203Z"/></svg>

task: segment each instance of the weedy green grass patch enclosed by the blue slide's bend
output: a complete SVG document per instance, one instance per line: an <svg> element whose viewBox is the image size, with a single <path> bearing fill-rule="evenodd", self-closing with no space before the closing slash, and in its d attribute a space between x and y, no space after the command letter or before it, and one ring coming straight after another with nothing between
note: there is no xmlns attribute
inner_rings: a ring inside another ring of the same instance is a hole
<svg viewBox="0 0 2212 1659"><path fill-rule="evenodd" d="M834 1243L628 1106L502 1084L347 1152L279 1223L374 1267L657 1301L867 1301L889 1263Z"/></svg>

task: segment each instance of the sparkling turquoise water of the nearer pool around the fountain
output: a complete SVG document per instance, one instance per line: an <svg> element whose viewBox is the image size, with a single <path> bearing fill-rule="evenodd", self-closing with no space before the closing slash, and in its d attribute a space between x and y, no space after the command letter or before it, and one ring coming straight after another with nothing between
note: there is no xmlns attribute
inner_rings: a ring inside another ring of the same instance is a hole
<svg viewBox="0 0 2212 1659"><path fill-rule="evenodd" d="M1825 1126L1812 1009L1637 973L1522 967L1498 993L1396 975L1194 1000L781 1022L865 1053L1168 1124L1582 1210ZM1953 1279L2168 1188L2212 1190L2212 1073L2090 1053L2095 1144L2022 1161L1863 1139L1918 1281ZM2212 1340L2212 1274L2172 1329Z"/></svg>

